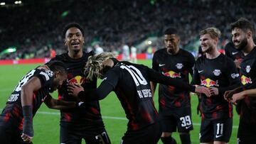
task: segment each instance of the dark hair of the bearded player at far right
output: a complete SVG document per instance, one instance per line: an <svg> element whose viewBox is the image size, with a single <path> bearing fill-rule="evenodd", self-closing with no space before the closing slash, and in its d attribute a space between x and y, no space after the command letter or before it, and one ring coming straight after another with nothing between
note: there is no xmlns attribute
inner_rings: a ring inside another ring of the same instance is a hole
<svg viewBox="0 0 256 144"><path fill-rule="evenodd" d="M248 21L246 18L239 18L238 21L230 24L231 30L233 31L235 28L240 28L242 31L250 30L252 33L255 33L255 29L253 24Z"/></svg>

